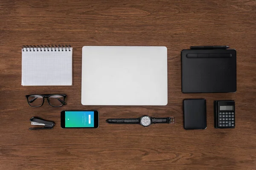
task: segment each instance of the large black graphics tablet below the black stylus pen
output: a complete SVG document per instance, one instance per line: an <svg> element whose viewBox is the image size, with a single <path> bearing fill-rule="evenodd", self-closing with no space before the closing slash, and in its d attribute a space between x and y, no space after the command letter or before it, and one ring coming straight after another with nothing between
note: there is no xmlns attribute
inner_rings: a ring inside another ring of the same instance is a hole
<svg viewBox="0 0 256 170"><path fill-rule="evenodd" d="M181 51L183 93L236 92L235 49Z"/></svg>

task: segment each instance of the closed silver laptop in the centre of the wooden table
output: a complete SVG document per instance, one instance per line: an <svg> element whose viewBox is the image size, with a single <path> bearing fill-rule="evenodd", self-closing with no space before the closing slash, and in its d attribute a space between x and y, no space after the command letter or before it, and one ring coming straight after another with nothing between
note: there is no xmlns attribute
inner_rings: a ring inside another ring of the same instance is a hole
<svg viewBox="0 0 256 170"><path fill-rule="evenodd" d="M167 105L167 48L84 46L82 105Z"/></svg>

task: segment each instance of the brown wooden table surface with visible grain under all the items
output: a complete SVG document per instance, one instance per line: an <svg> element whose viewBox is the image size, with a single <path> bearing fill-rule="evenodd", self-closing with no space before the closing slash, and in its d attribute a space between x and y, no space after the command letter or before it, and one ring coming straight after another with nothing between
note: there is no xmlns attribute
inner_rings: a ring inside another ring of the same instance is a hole
<svg viewBox="0 0 256 170"><path fill-rule="evenodd" d="M22 45L70 44L73 86L23 87ZM81 105L84 45L168 48L168 105ZM229 45L237 51L237 92L182 94L180 51ZM1 170L256 170L255 0L0 1ZM67 94L67 105L29 107L26 94ZM207 129L184 130L182 101L207 100ZM215 129L213 101L236 101L236 128ZM61 129L61 110L99 110L98 129ZM175 124L110 125L108 118L174 116ZM55 122L29 130L29 119Z"/></svg>

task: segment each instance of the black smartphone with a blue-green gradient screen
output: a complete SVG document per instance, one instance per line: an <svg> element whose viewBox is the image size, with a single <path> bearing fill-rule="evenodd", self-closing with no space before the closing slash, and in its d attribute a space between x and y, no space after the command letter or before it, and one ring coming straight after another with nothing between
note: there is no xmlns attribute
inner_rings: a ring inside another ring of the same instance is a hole
<svg viewBox="0 0 256 170"><path fill-rule="evenodd" d="M98 128L99 111L61 111L61 128Z"/></svg>

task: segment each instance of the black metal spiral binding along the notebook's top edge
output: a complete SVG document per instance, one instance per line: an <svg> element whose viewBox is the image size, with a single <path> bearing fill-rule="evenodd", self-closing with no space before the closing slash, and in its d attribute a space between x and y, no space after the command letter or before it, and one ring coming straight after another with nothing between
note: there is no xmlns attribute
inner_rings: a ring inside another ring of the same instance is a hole
<svg viewBox="0 0 256 170"><path fill-rule="evenodd" d="M71 45L23 45L22 51L71 51Z"/></svg>

